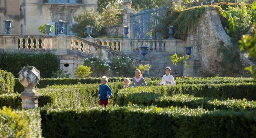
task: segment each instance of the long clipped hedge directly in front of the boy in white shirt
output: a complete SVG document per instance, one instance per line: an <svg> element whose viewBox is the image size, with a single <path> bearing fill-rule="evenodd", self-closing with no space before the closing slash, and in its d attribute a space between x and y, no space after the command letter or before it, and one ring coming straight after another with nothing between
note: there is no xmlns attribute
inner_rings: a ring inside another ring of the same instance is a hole
<svg viewBox="0 0 256 138"><path fill-rule="evenodd" d="M208 97L216 99L247 99L256 100L255 83L227 83L227 84L198 84L175 86L151 86L122 89L116 97L120 106L131 103L151 105L161 96L188 94L195 97Z"/></svg>

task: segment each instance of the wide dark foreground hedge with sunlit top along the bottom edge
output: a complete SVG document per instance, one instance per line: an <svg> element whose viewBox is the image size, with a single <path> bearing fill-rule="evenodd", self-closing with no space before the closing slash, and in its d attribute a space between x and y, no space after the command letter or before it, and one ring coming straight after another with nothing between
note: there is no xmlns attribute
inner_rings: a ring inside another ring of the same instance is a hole
<svg viewBox="0 0 256 138"><path fill-rule="evenodd" d="M45 108L41 116L44 137L256 137L256 111L129 105Z"/></svg>

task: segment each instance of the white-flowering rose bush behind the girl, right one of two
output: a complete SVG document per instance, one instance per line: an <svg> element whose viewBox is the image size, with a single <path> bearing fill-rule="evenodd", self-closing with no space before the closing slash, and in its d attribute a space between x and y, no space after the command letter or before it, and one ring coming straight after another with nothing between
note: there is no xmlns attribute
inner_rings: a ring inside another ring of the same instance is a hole
<svg viewBox="0 0 256 138"><path fill-rule="evenodd" d="M117 57L111 60L111 70L118 76L134 75L134 61L130 57Z"/></svg>

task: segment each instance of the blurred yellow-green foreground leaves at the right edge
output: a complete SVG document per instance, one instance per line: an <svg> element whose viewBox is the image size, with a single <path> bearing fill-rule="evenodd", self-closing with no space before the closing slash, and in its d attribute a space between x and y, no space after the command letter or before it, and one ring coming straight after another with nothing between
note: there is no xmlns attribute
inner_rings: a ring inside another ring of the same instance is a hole
<svg viewBox="0 0 256 138"><path fill-rule="evenodd" d="M254 23L256 25L256 23ZM243 35L240 43L240 50L244 50L245 52L249 53L249 57L256 58L256 34L249 36ZM249 67L245 68L249 71L250 75L256 78L256 65L250 65Z"/></svg>

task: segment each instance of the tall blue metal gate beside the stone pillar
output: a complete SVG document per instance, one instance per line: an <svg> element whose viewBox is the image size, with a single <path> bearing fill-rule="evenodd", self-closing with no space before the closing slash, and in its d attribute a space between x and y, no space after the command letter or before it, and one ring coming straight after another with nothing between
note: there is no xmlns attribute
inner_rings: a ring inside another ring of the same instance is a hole
<svg viewBox="0 0 256 138"><path fill-rule="evenodd" d="M157 26L157 17L162 15L165 7L154 8L151 10L140 10L131 17L131 38L158 38L159 33L154 33Z"/></svg>

